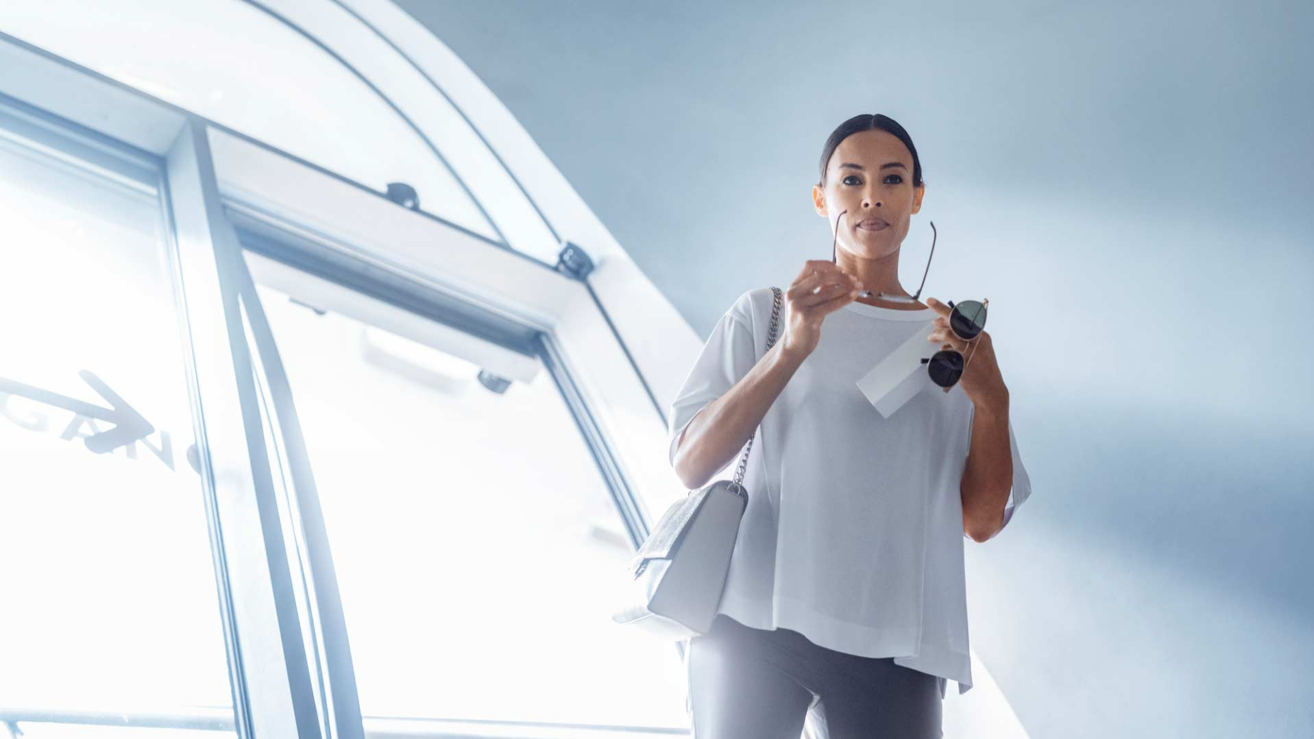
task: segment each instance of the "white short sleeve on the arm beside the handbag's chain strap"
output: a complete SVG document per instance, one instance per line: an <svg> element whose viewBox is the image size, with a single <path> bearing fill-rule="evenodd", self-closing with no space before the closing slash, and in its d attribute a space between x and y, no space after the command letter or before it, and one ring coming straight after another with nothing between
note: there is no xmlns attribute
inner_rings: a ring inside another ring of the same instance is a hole
<svg viewBox="0 0 1314 739"><path fill-rule="evenodd" d="M679 437L698 412L733 388L757 363L753 341L752 291L740 296L735 305L712 327L703 351L694 362L683 387L675 394L668 413L669 459L675 465Z"/></svg>

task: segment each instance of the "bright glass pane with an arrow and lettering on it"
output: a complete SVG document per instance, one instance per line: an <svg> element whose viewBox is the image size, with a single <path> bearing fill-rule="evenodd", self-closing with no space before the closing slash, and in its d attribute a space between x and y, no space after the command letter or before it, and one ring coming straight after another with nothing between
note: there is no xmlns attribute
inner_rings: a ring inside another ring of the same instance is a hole
<svg viewBox="0 0 1314 739"><path fill-rule="evenodd" d="M0 705L231 721L159 196L0 138Z"/></svg>

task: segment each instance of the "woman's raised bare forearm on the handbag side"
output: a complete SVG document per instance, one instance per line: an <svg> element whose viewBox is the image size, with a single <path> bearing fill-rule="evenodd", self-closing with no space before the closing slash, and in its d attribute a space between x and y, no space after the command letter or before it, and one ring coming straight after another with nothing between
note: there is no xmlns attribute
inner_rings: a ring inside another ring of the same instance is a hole
<svg viewBox="0 0 1314 739"><path fill-rule="evenodd" d="M694 416L675 447L675 475L689 489L707 484L748 443L805 356L777 343L733 388Z"/></svg>

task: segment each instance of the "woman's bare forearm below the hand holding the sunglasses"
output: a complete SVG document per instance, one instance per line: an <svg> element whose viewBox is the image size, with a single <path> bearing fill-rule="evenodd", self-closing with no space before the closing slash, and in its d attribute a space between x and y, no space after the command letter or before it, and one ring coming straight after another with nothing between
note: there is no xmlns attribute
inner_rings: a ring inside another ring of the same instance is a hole
<svg viewBox="0 0 1314 739"><path fill-rule="evenodd" d="M984 542L1004 526L1004 505L1013 489L1013 450L1008 441L1008 393L978 404L972 443L961 487L963 531Z"/></svg>

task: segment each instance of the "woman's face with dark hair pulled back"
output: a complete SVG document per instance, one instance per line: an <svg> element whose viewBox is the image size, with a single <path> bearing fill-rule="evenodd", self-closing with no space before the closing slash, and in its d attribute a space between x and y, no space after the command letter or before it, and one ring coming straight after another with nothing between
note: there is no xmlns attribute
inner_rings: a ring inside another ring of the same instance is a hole
<svg viewBox="0 0 1314 739"><path fill-rule="evenodd" d="M908 147L899 137L871 129L840 142L827 163L825 188L812 185L812 203L838 231L841 249L879 259L899 251L925 192L925 184L912 187ZM844 210L848 213L840 218ZM883 224L863 222L869 220Z"/></svg>

